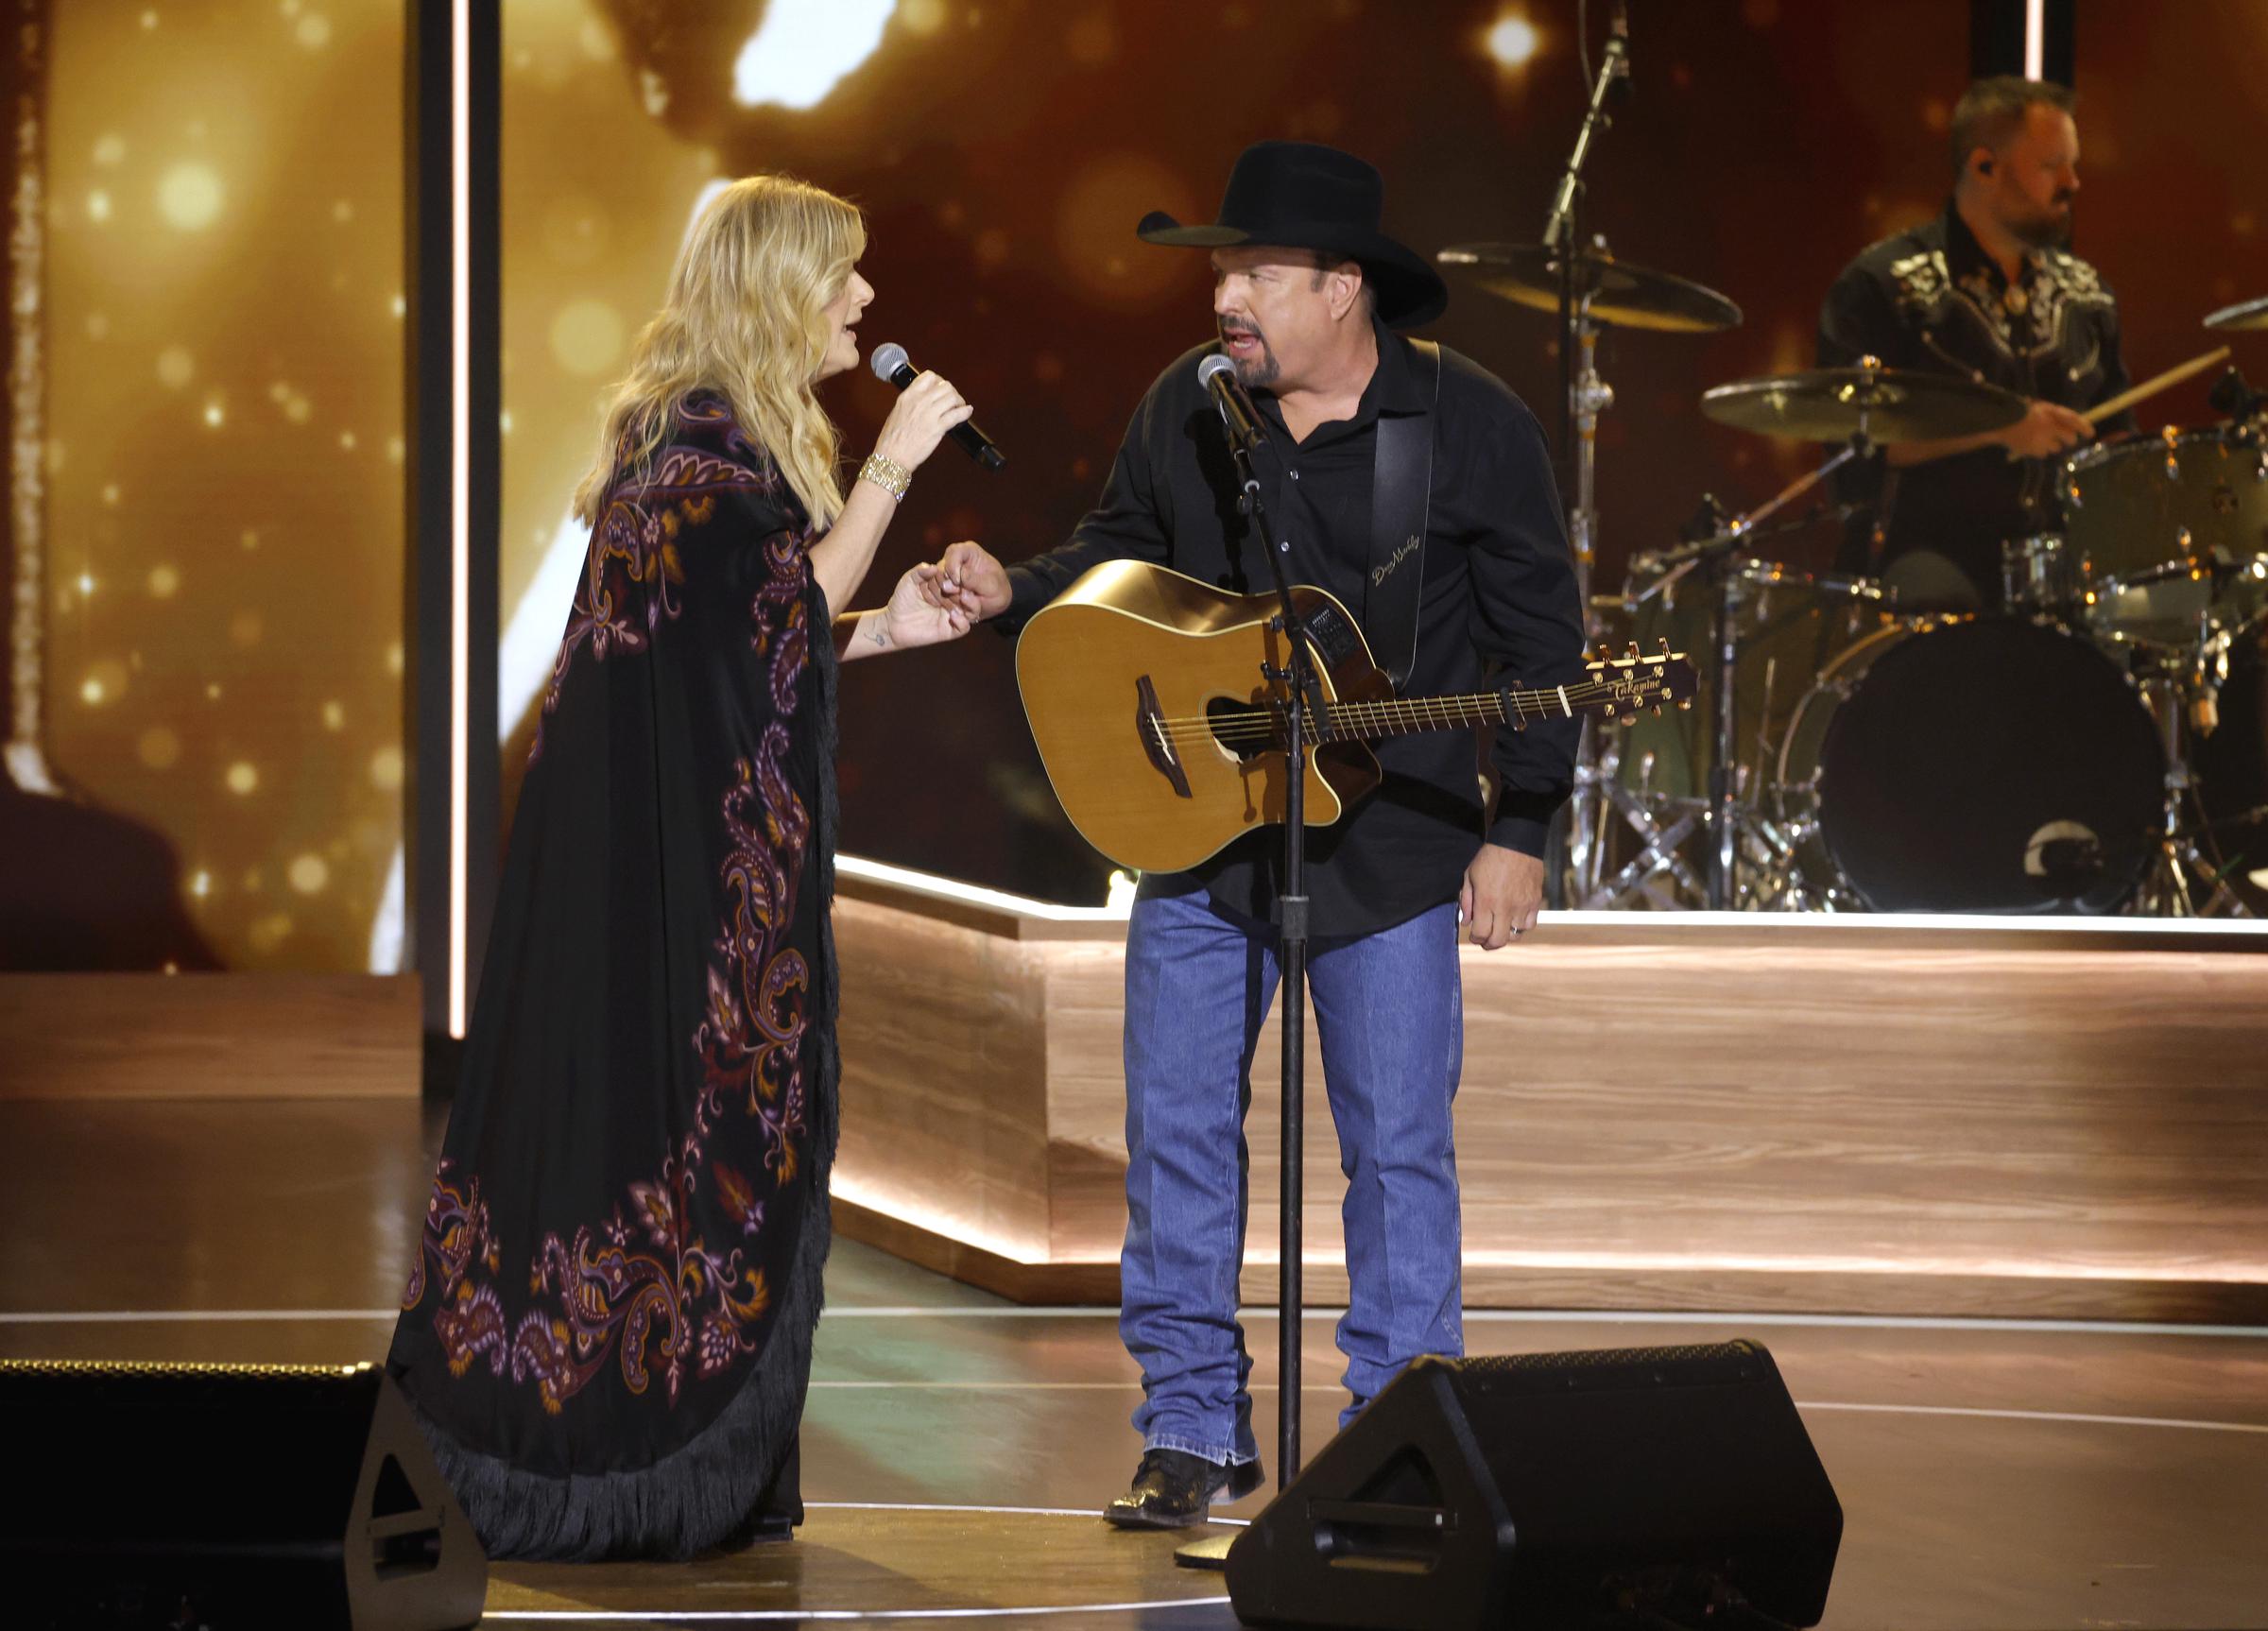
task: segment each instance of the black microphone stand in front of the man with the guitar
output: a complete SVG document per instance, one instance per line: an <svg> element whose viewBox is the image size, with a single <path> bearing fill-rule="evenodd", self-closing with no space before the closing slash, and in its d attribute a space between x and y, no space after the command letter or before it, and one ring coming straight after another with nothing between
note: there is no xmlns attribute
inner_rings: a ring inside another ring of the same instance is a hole
<svg viewBox="0 0 2268 1631"><path fill-rule="evenodd" d="M1227 422L1227 415L1222 415ZM1284 889L1277 896L1277 1003L1279 1032L1284 1043L1284 1107L1281 1107L1281 1155L1279 1155L1279 1259L1277 1273L1277 1490L1281 1493L1300 1474L1300 1318L1302 1318L1302 1264L1300 1248L1304 1234L1304 1171L1306 1150L1306 939L1309 939L1309 894L1306 894L1306 764L1315 733L1329 724L1322 701L1322 681L1315 674L1313 653L1300 626L1300 608L1290 597L1290 574L1284 556L1290 551L1288 538L1277 538L1261 501L1261 481L1252 470L1252 447L1234 424L1229 424L1229 454L1236 458L1238 508L1252 517L1268 556L1268 574L1275 578L1277 615L1268 626L1284 640L1281 662L1261 662L1261 678L1279 685L1284 696ZM1184 1567L1227 1567L1229 1545L1243 1531L1229 1531L1193 1540L1175 1552L1175 1563Z"/></svg>

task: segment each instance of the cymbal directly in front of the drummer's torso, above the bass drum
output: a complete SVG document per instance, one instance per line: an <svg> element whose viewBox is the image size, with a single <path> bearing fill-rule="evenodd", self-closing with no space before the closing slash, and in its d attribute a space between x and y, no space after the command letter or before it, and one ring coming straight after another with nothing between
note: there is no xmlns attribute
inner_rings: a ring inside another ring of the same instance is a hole
<svg viewBox="0 0 2268 1631"><path fill-rule="evenodd" d="M2023 417L2023 397L1946 374L1896 367L1814 367L1740 379L1701 392L1701 413L1737 431L1839 442L1935 442L1998 431Z"/></svg>

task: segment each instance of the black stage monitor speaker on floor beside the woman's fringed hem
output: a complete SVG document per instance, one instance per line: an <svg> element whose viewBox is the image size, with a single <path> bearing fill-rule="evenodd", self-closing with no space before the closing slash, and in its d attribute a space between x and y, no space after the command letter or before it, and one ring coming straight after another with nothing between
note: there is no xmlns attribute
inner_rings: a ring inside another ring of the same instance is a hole
<svg viewBox="0 0 2268 1631"><path fill-rule="evenodd" d="M9 1624L481 1617L488 1558L374 1366L0 1361L0 1443Z"/></svg>

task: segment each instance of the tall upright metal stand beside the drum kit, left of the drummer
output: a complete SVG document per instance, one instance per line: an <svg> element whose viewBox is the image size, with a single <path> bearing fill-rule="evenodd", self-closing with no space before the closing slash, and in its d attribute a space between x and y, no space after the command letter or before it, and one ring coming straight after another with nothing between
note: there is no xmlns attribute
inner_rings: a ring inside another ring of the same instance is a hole
<svg viewBox="0 0 2268 1631"><path fill-rule="evenodd" d="M1615 120L1606 113L1606 98L1615 86L1628 84L1631 41L1617 29L1606 41L1606 57L1599 77L1590 86L1590 107L1574 136L1574 152L1560 172L1558 193L1551 197L1551 216L1545 220L1542 243L1558 250L1560 297L1560 492L1567 501L1567 542L1574 551L1574 588L1583 603L1583 642L1599 640L1597 615L1590 606L1590 569L1597 558L1599 508L1597 508L1597 431L1599 413L1615 406L1613 388L1599 379L1594 367L1599 329L1590 320L1590 293L1576 288L1576 261L1583 254L1581 197L1583 166L1590 161L1592 138ZM1576 361L1581 356L1581 363ZM1579 889L1588 896L1597 885L1597 857L1592 855L1599 801L1599 764L1594 749L1597 726L1585 717L1583 737L1576 746L1574 796L1567 801L1567 853ZM1549 903L1567 905L1569 867L1554 867L1545 880Z"/></svg>

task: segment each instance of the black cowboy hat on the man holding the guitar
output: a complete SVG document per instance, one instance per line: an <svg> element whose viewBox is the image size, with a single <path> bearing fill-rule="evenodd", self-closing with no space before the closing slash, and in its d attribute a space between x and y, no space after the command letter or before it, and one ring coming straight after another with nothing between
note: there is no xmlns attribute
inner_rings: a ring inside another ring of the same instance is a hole
<svg viewBox="0 0 2268 1631"><path fill-rule="evenodd" d="M1256 141L1236 154L1220 220L1184 227L1161 209L1141 218L1143 243L1222 250L1236 243L1327 250L1361 263L1379 320L1415 329L1449 309L1449 286L1417 252L1379 231L1386 184L1352 152L1313 141Z"/></svg>

